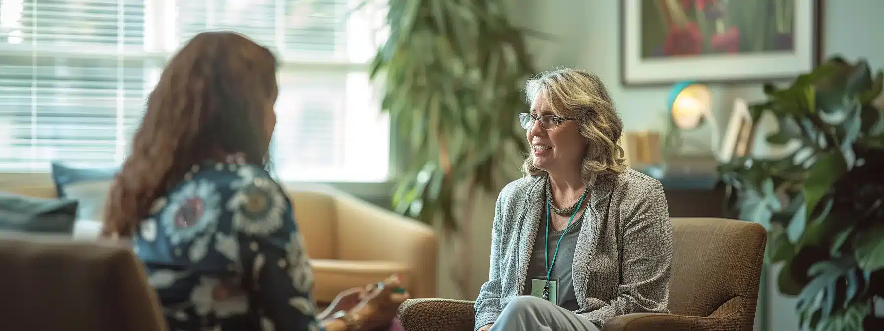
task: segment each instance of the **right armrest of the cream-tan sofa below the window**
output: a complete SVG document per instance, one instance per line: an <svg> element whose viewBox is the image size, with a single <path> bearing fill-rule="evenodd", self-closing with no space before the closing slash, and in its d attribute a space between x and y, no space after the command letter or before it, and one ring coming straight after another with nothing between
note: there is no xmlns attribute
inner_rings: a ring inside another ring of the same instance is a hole
<svg viewBox="0 0 884 331"><path fill-rule="evenodd" d="M412 297L436 296L438 243L430 226L345 193L335 199L338 259L404 263Z"/></svg>

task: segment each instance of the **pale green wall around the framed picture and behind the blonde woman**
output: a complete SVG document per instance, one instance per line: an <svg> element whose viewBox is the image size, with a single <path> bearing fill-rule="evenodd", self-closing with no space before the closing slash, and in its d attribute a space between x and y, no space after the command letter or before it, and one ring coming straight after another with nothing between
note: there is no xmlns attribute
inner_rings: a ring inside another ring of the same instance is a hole
<svg viewBox="0 0 884 331"><path fill-rule="evenodd" d="M553 34L555 41L532 41L531 51L537 69L575 66L595 71L607 83L627 130L663 130L666 125L668 87L623 87L620 84L620 26L617 0L509 0L511 17L517 25ZM884 66L884 44L877 37L884 31L884 1L828 0L824 5L823 45L826 56L841 54L849 60L863 56L873 68ZM726 118L735 97L749 102L763 99L758 84L713 86L718 101L717 117ZM724 106L724 107L722 107ZM518 167L518 164L514 164ZM494 197L485 197L470 222L471 290L474 299L478 287L488 279L488 255L491 252L491 222ZM445 270L446 266L441 266ZM773 275L773 273L771 273ZM773 276L771 277L773 278ZM440 277L440 295L454 297L446 275ZM769 307L766 323L758 329L794 330L797 318L794 300L776 295L766 298ZM766 326L765 326L766 324Z"/></svg>

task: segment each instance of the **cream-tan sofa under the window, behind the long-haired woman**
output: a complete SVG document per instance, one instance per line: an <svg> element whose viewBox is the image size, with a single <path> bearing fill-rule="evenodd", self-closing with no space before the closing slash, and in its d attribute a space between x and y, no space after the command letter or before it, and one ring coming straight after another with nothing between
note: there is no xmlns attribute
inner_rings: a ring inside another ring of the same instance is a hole
<svg viewBox="0 0 884 331"><path fill-rule="evenodd" d="M286 185L312 259L314 297L400 274L413 297L435 297L438 244L431 227L323 185ZM55 198L52 185L0 185L0 192ZM75 229L75 231L77 231Z"/></svg>

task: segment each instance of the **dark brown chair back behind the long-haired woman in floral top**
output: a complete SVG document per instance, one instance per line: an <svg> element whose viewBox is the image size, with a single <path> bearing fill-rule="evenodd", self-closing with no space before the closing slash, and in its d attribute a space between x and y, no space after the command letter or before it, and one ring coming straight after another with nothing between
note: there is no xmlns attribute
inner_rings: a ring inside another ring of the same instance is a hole
<svg viewBox="0 0 884 331"><path fill-rule="evenodd" d="M126 244L4 234L0 266L4 329L165 329L156 293Z"/></svg>

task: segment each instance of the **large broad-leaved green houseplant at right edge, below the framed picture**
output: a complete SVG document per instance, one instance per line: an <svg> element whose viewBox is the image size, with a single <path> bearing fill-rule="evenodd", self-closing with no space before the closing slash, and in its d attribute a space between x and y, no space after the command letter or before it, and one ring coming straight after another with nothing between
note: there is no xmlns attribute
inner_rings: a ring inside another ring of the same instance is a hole
<svg viewBox="0 0 884 331"><path fill-rule="evenodd" d="M817 330L880 329L884 295L884 112L873 106L884 74L835 57L789 87L764 86L751 106L766 137L791 152L722 165L740 218L769 231L767 258L784 262L780 290L798 297L802 324Z"/></svg>

